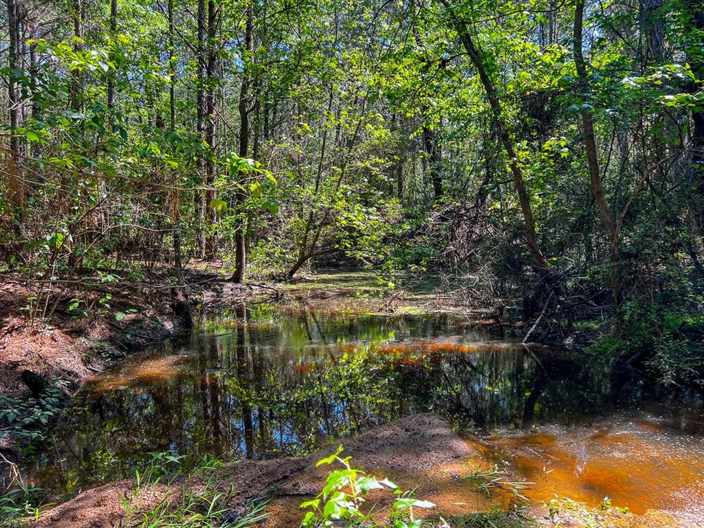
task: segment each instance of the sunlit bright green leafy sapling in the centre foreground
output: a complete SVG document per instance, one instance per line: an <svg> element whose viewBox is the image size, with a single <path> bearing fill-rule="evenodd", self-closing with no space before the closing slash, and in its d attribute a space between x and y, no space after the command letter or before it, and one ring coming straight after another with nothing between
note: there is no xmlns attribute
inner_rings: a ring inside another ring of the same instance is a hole
<svg viewBox="0 0 704 528"><path fill-rule="evenodd" d="M342 446L327 458L317 464L326 465L338 462L343 469L331 472L325 479L325 487L312 501L301 504L307 509L301 527L318 528L337 526L336 522L346 521L346 526L379 527L375 519L386 514L390 526L394 528L420 528L423 521L416 519L413 508L434 508L435 505L428 501L420 501L413 497L411 491L402 491L388 479L378 480L370 477L365 472L356 470L350 463L350 457L341 458ZM375 509L363 511L365 496L372 489L389 489L396 496L394 503L386 512Z"/></svg>

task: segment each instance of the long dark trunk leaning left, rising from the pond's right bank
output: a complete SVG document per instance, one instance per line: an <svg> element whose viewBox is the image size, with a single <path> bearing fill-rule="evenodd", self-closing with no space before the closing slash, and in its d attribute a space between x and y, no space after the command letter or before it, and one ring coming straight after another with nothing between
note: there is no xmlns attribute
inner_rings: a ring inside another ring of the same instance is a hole
<svg viewBox="0 0 704 528"><path fill-rule="evenodd" d="M494 119L496 120L496 127L498 128L498 136L503 143L503 148L508 156L509 168L511 171L511 176L513 177L513 184L516 188L518 194L518 203L520 203L521 212L523 215L523 223L525 229L526 245L533 258L533 262L538 268L543 270L548 269L548 263L543 256L543 252L540 249L538 243L538 237L535 230L535 220L533 218L533 210L530 205L530 198L528 196L528 191L525 187L525 182L523 178L523 171L518 164L518 158L516 155L515 146L513 139L511 138L508 127L506 126L506 121L501 110L501 102L498 100L498 94L496 92L496 87L494 86L494 81L489 77L489 73L486 72L484 67L484 61L482 57L479 56L479 51L474 46L474 41L467 29L467 23L465 23L460 16L455 13L453 8L450 6L448 0L441 0L443 4L448 9L451 16L453 24L455 25L455 30L457 30L460 41L467 51L467 55L470 57L474 68L477 68L477 73L479 74L479 80L482 82L484 87L484 92L489 99L489 106L491 106L491 111L494 113Z"/></svg>

